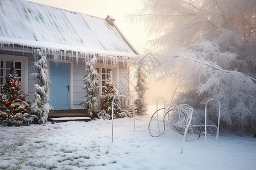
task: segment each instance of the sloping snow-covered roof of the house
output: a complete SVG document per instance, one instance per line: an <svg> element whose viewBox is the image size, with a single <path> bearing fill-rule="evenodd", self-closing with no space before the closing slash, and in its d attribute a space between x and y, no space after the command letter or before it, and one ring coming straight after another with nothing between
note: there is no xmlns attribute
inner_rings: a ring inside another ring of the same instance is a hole
<svg viewBox="0 0 256 170"><path fill-rule="evenodd" d="M23 0L0 1L0 44L106 56L137 56L109 16L79 12Z"/></svg>

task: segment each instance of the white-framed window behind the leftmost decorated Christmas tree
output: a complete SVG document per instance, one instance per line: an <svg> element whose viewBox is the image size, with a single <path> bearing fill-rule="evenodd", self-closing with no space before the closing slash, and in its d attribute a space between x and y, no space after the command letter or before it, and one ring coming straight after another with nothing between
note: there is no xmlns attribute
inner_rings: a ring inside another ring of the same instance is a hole
<svg viewBox="0 0 256 170"><path fill-rule="evenodd" d="M0 58L0 92L2 92L2 86L5 83L5 77L10 74L11 61L13 61L13 66L16 70L17 76L22 83L23 92L27 93L27 81L25 81L25 71L27 71L27 69L25 68L25 62L27 57L0 54Z"/></svg>

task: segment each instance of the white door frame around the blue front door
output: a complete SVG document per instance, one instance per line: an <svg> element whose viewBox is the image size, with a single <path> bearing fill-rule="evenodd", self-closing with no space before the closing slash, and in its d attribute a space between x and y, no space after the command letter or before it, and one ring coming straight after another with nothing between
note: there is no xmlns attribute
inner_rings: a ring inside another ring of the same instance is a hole
<svg viewBox="0 0 256 170"><path fill-rule="evenodd" d="M48 69L48 73L47 73L47 78L49 80L49 62L63 62L63 63L70 63L70 109L74 108L74 84L73 84L73 74L74 74L74 66L73 66L73 61L55 61L52 58L47 58L47 69ZM48 91L48 96L50 96L49 91Z"/></svg>

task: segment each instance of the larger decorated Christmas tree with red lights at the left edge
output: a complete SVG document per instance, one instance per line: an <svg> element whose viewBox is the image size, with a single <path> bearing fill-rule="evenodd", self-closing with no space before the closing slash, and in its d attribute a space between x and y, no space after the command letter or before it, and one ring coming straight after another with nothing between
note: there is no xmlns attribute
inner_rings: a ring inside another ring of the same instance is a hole
<svg viewBox="0 0 256 170"><path fill-rule="evenodd" d="M7 125L23 125L33 122L29 114L26 95L22 91L21 82L11 62L10 74L0 94L0 121Z"/></svg>

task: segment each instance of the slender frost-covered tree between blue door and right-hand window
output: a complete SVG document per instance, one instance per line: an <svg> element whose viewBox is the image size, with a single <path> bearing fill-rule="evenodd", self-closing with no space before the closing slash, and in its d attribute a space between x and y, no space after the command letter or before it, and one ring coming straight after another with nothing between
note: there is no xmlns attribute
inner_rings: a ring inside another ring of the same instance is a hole
<svg viewBox="0 0 256 170"><path fill-rule="evenodd" d="M97 70L93 68L93 64L97 61L96 58L93 58L91 61L86 63L86 70L84 76L84 86L82 87L85 90L85 98L81 102L81 105L87 109L90 116L96 116L96 107L98 104L98 86L100 81L100 74Z"/></svg>

